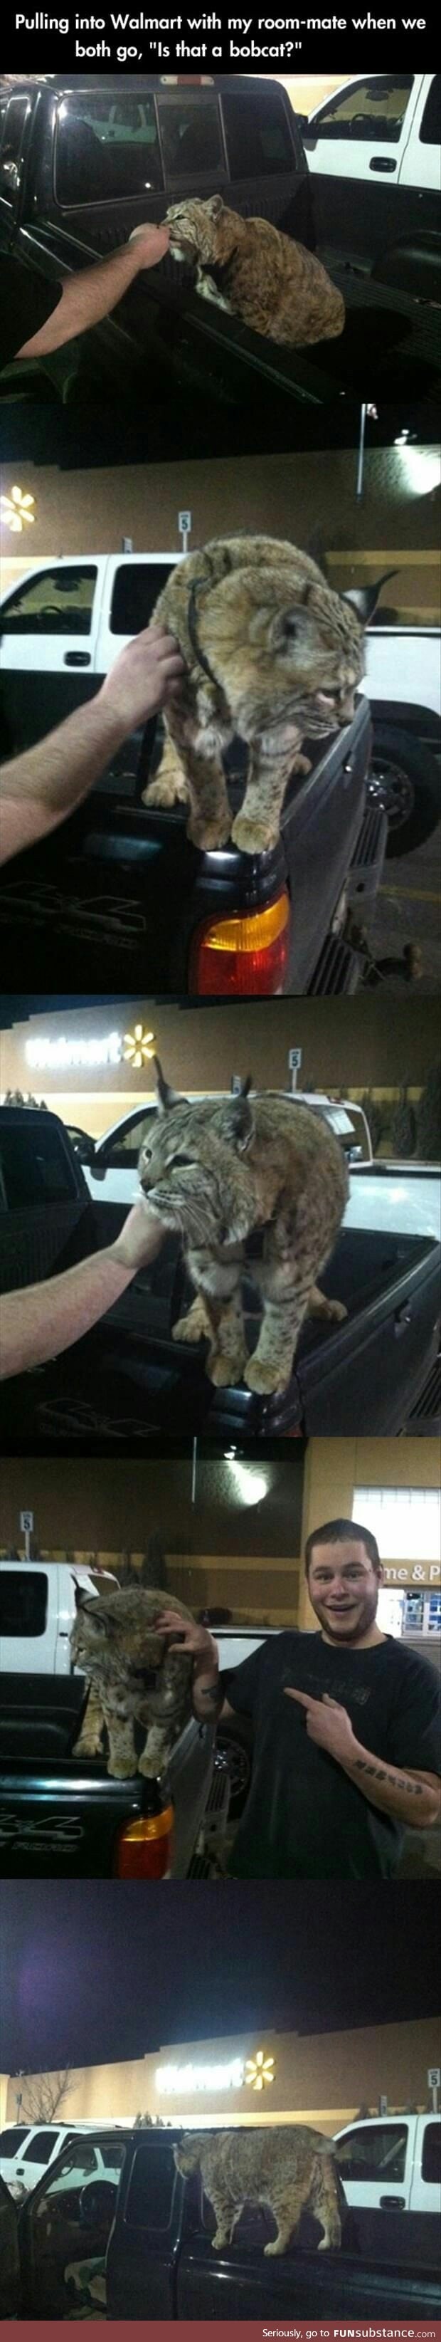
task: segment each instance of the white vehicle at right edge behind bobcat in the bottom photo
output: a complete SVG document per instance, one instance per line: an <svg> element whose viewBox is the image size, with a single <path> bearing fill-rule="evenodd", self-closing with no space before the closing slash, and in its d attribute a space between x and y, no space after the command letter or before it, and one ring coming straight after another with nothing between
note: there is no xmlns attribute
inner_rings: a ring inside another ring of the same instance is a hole
<svg viewBox="0 0 441 2342"><path fill-rule="evenodd" d="M345 2201L441 2216L441 2115L380 2115L336 2131Z"/></svg>

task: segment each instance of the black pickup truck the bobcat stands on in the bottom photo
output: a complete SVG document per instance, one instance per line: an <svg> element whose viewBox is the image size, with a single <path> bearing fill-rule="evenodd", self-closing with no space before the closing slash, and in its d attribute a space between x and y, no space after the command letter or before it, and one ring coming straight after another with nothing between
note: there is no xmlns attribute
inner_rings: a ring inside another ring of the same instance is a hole
<svg viewBox="0 0 441 2342"><path fill-rule="evenodd" d="M233 2244L212 2253L215 2213L201 2180L175 2171L180 2131L100 2131L110 2180L91 2166L96 2134L63 2150L19 2216L21 2312L107 2319L425 2319L439 2312L436 2234L432 2265L418 2265L413 2218L406 2253L397 2216L383 2216L383 2255L364 2251L362 2213L343 2216L343 2246L320 2253L320 2230L303 2216L299 2241L264 2258L271 2213L245 2209ZM112 2157L119 2169L112 2169ZM434 2223L432 2223L434 2230ZM397 2248L399 2246L399 2248Z"/></svg>

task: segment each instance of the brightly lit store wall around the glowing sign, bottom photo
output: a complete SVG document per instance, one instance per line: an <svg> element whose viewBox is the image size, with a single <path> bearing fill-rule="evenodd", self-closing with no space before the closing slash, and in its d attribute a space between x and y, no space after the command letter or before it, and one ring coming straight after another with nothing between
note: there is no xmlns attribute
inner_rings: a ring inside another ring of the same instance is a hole
<svg viewBox="0 0 441 2342"><path fill-rule="evenodd" d="M229 2091L194 2091L189 2096L166 2096L156 2087L163 2066L226 2063L233 2056L254 2059L264 2049L273 2059L273 2082L261 2091L252 2087ZM138 2112L166 2115L168 2122L238 2124L238 2122L320 2122L336 2131L357 2117L362 2105L373 2112L378 2096L387 2096L390 2108L420 2105L427 2101L427 2068L439 2059L436 2019L415 2023L364 2026L350 2033L273 2033L229 2035L210 2042L173 2042L114 2066L91 2066L75 2075L75 2089L65 2101L68 2120L135 2120ZM26 2108L26 2082L23 2108ZM7 2091L7 2120L14 2122L14 2084Z"/></svg>

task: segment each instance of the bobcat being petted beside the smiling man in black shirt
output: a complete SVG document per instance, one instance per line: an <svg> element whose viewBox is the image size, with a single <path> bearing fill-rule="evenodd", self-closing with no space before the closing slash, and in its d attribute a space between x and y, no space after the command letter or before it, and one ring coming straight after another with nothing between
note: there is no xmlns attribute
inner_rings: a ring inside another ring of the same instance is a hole
<svg viewBox="0 0 441 2342"><path fill-rule="evenodd" d="M72 1665L91 1686L75 1756L98 1756L103 1724L110 1735L107 1773L166 1773L170 1749L191 1717L194 1660L180 1644L156 1632L166 1595L140 1586L128 1593L86 1595L75 1588L77 1618L70 1635ZM182 1621L191 1618L173 1595ZM145 1724L142 1756L133 1726Z"/></svg>

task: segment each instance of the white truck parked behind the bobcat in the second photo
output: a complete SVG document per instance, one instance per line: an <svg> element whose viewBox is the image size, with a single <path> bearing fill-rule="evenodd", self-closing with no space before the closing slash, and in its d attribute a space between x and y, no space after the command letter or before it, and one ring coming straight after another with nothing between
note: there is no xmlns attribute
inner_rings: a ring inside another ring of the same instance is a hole
<svg viewBox="0 0 441 2342"><path fill-rule="evenodd" d="M180 560L182 553L91 553L40 562L2 595L0 754L44 738L91 698L124 644L149 625ZM385 806L392 852L413 852L439 822L441 785L432 754L441 724L439 653L439 625L378 623L366 632L362 691L373 714L371 794Z"/></svg>

